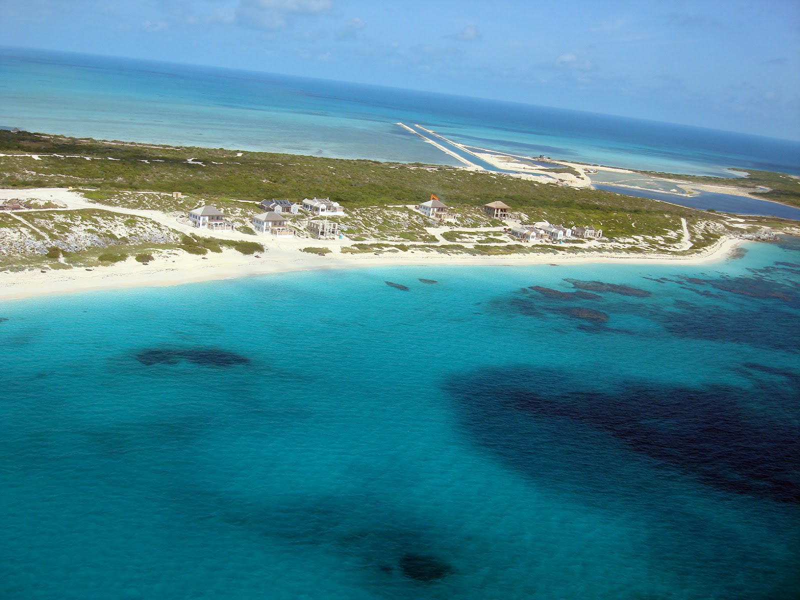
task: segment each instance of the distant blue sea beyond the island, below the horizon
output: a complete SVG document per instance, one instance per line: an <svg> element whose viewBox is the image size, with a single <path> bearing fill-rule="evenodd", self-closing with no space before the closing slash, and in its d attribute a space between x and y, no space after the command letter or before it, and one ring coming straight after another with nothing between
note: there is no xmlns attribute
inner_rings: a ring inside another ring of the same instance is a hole
<svg viewBox="0 0 800 600"><path fill-rule="evenodd" d="M800 142L558 108L166 62L0 48L0 126L186 146L458 164L470 146L668 173L800 174Z"/></svg>

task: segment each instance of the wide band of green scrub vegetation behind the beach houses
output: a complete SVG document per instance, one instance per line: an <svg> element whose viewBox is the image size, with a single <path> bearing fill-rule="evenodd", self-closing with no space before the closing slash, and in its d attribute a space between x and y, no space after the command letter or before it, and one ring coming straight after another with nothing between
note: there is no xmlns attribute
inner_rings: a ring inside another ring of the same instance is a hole
<svg viewBox="0 0 800 600"><path fill-rule="evenodd" d="M0 157L0 187L83 186L94 188L89 194L98 202L166 211L189 210L201 202L214 202L226 207L226 213L230 206L254 214L257 206L253 202L262 198L297 201L315 195L341 202L348 210L346 222L354 209L414 205L433 193L454 206L456 214L501 200L512 210L535 215L536 220L592 224L602 227L611 237L630 234L625 227L632 217L638 221L640 233L652 230L658 234L665 227L674 227L678 217L697 212L611 192L546 186L448 166L423 168L416 164L262 152L236 156L230 150L148 147L8 131L0 131L0 153L42 155L39 161ZM53 153L98 160L45 156ZM186 162L189 158L195 160ZM185 195L172 198L174 190ZM148 193L130 193L136 191ZM459 221L461 226L490 224L479 222L478 211L465 213L464 219ZM243 218L238 224L247 226ZM378 230L386 228L386 237L401 237L390 222L375 225ZM358 235L358 231L354 234ZM406 231L408 241L430 241L419 238L421 234Z"/></svg>

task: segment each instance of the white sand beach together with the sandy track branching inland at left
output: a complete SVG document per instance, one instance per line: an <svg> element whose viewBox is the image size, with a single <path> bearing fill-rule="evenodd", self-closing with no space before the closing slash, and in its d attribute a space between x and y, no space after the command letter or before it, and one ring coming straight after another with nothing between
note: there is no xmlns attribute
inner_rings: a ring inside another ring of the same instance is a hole
<svg viewBox="0 0 800 600"><path fill-rule="evenodd" d="M201 230L179 222L174 214L158 210L128 209L90 202L74 190L0 190L0 201L9 198L36 198L62 206L60 210L94 208L114 213L150 218L182 234L198 234ZM49 209L53 210L53 209ZM59 210L59 209L56 209ZM35 212L35 210L33 210ZM24 216L26 211L20 211ZM656 253L613 253L602 250L572 254L569 251L545 251L538 254L505 254L502 256L475 256L470 254L444 254L436 251L409 250L381 254L342 253L350 246L347 238L315 240L304 238L274 238L271 235L249 236L237 232L202 230L202 234L225 240L247 240L262 243L265 252L254 255L240 254L235 250L208 253L204 256L186 254L180 250L162 250L155 260L143 264L134 258L110 266L91 269L74 267L68 270L30 269L0 273L0 300L29 298L50 294L69 294L90 290L109 290L140 286L174 286L182 283L218 279L242 278L251 275L282 273L295 270L343 269L370 266L451 266L451 265L506 265L525 266L543 264L582 264L592 262L624 262L666 264L702 264L724 259L742 240L723 238L718 243L698 251L697 254L669 255ZM303 252L302 248L319 247L330 250L320 256ZM547 246L556 250L558 246Z"/></svg>

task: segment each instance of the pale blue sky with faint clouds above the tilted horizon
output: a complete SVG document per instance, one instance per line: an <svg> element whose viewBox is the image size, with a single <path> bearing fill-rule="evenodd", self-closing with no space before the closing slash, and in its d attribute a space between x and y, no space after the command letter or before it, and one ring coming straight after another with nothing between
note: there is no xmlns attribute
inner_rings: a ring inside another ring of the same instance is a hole
<svg viewBox="0 0 800 600"><path fill-rule="evenodd" d="M0 40L800 139L796 0L0 0Z"/></svg>

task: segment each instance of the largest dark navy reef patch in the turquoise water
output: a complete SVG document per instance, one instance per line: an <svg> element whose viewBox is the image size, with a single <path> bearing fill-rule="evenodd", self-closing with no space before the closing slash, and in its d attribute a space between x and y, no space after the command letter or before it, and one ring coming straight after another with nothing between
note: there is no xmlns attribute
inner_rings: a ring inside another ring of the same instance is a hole
<svg viewBox="0 0 800 600"><path fill-rule="evenodd" d="M794 414L800 400L794 386L758 379L746 389L632 381L593 390L576 386L574 374L521 366L456 374L447 390L478 441L532 478L562 473L557 463L569 455L582 468L589 463L586 478L596 481L586 485L622 490L631 484L614 478L626 475L614 475L602 459L609 451L603 438L610 436L719 490L800 504L800 426L792 424L798 420L750 408L763 398L763 406ZM542 452L540 426L562 430L566 454Z"/></svg>

